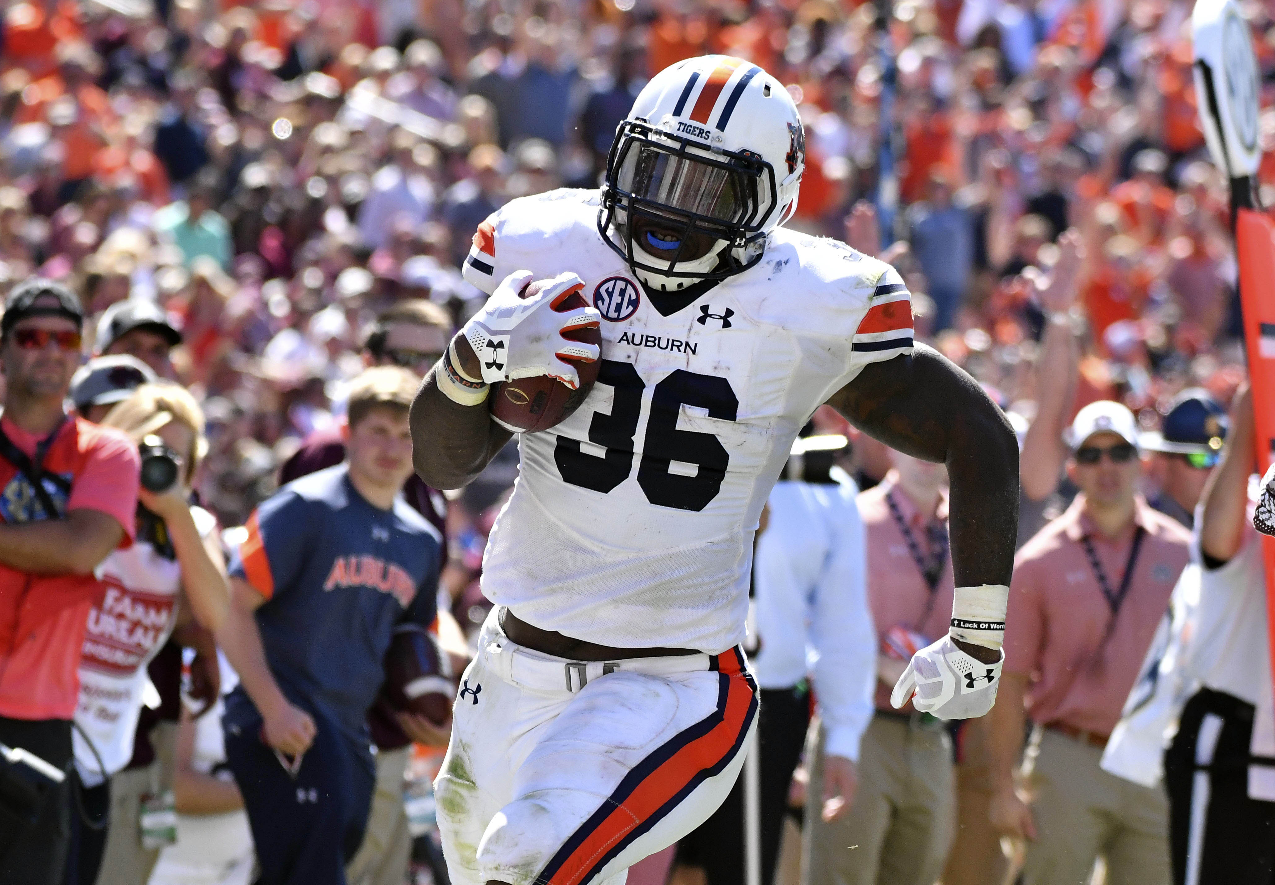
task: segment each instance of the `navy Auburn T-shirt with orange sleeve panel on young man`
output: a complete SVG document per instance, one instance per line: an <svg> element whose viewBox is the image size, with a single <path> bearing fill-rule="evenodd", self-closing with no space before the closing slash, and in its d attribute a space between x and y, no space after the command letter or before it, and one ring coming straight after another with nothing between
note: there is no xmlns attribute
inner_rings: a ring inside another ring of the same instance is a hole
<svg viewBox="0 0 1275 885"><path fill-rule="evenodd" d="M361 735L394 627L436 615L437 529L402 495L372 506L338 464L280 488L247 532L231 574L266 597L256 625L279 689Z"/></svg>

